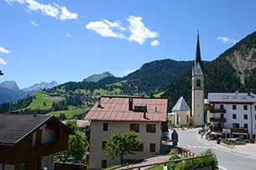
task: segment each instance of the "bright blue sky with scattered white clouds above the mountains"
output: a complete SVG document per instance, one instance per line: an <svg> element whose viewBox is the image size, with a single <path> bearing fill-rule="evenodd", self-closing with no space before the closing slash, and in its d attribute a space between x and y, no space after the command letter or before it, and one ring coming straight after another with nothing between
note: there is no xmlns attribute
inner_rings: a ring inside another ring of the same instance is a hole
<svg viewBox="0 0 256 170"><path fill-rule="evenodd" d="M0 0L0 70L41 81L123 77L159 59L213 60L256 30L254 0Z"/></svg>

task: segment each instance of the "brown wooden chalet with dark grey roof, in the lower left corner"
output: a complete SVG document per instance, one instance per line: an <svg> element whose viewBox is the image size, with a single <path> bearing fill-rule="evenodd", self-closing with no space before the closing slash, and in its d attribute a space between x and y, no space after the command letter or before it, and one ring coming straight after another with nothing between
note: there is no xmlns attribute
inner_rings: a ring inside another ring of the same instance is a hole
<svg viewBox="0 0 256 170"><path fill-rule="evenodd" d="M70 134L55 116L0 114L0 169L55 169L55 152L68 148Z"/></svg>

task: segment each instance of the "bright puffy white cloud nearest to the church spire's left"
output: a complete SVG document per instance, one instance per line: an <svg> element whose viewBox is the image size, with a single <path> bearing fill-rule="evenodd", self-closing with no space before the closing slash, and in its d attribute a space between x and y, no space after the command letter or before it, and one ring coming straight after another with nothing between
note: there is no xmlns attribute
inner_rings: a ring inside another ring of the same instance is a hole
<svg viewBox="0 0 256 170"><path fill-rule="evenodd" d="M144 23L141 22L141 17L130 16L127 20L130 23L129 30L132 33L128 38L129 41L136 41L138 44L144 44L146 39L157 38L159 36L159 33L150 31L149 28L144 26Z"/></svg>

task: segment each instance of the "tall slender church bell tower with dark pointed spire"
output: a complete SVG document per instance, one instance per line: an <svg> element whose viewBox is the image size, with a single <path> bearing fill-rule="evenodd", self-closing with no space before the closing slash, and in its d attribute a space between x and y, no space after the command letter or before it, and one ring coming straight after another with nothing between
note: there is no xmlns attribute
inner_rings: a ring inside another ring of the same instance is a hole
<svg viewBox="0 0 256 170"><path fill-rule="evenodd" d="M196 59L192 65L192 118L193 125L204 123L204 75L201 63L199 32L197 32Z"/></svg>

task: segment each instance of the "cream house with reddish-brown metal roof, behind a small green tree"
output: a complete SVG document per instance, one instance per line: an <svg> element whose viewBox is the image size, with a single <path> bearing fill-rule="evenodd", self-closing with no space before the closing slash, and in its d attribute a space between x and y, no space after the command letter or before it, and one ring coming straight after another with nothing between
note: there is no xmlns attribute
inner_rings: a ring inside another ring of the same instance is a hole
<svg viewBox="0 0 256 170"><path fill-rule="evenodd" d="M139 160L159 154L162 122L166 121L167 99L102 96L85 117L91 121L89 169L120 164L120 159L106 157L107 139L119 131L135 131L141 145L135 155L123 161Z"/></svg>

